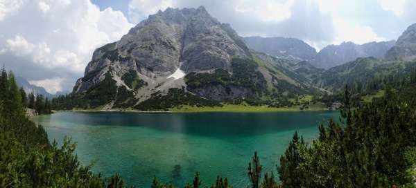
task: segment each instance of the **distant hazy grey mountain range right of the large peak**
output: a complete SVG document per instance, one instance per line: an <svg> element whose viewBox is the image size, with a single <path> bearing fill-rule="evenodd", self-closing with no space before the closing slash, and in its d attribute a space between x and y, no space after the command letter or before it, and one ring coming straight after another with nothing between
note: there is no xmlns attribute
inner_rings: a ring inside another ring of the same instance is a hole
<svg viewBox="0 0 416 188"><path fill-rule="evenodd" d="M283 37L245 37L245 42L254 50L293 62L308 61L317 68L328 69L358 57L383 58L385 53L395 46L396 41L370 42L362 45L343 42L340 45L329 45L319 53L300 39Z"/></svg>

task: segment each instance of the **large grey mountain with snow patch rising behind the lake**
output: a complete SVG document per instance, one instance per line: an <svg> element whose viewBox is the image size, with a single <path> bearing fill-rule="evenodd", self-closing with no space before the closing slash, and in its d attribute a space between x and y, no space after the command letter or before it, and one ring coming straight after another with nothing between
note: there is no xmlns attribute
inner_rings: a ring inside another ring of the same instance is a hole
<svg viewBox="0 0 416 188"><path fill-rule="evenodd" d="M159 11L96 49L73 93L89 108L157 110L314 90L286 60L249 50L201 6Z"/></svg>

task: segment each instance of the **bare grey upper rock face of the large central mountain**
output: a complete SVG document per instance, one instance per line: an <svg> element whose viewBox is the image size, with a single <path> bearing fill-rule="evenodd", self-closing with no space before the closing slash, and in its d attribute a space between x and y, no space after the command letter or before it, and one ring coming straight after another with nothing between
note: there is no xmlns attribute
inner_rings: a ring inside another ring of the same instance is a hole
<svg viewBox="0 0 416 188"><path fill-rule="evenodd" d="M177 68L185 73L229 70L232 56L251 56L232 28L211 17L203 7L168 8L150 15L120 41L98 48L74 91L83 93L101 82L110 67L113 77L122 77L133 69L152 82Z"/></svg>

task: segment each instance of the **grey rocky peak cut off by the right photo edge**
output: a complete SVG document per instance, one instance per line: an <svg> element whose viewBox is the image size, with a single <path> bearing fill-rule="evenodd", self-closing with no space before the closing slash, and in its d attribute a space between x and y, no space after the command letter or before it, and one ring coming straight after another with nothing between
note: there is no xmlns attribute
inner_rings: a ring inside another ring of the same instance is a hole
<svg viewBox="0 0 416 188"><path fill-rule="evenodd" d="M416 23L409 26L397 39L395 46L385 54L388 60L411 60L416 58Z"/></svg>

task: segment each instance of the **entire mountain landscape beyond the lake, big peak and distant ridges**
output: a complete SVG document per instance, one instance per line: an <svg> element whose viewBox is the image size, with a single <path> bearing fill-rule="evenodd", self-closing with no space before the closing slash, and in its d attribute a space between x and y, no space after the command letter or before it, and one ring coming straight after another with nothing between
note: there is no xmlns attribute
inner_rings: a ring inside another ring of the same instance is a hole
<svg viewBox="0 0 416 188"><path fill-rule="evenodd" d="M293 98L410 73L415 30L397 42L347 42L317 53L299 39L240 37L202 6L167 8L96 49L67 97L76 109L292 106Z"/></svg>

